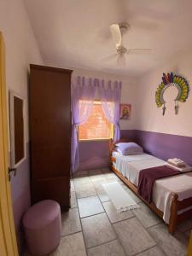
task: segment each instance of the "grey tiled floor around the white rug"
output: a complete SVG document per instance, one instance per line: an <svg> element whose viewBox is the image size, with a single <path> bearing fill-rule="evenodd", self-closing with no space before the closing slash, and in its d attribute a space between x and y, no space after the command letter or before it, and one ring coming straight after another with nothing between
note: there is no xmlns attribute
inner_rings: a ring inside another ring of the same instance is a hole
<svg viewBox="0 0 192 256"><path fill-rule="evenodd" d="M140 208L117 213L103 183L117 180ZM78 172L71 180L71 205L63 212L61 244L51 256L184 256L192 218L177 228L166 224L108 168Z"/></svg>

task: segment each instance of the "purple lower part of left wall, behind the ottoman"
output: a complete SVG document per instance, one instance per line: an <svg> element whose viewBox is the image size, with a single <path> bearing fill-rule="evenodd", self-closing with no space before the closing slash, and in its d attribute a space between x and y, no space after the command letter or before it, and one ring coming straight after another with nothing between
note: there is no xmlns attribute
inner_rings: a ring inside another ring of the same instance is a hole
<svg viewBox="0 0 192 256"><path fill-rule="evenodd" d="M11 176L11 194L13 202L13 211L15 218L15 231L19 250L24 246L22 217L24 212L30 207L30 172L29 172L29 145L26 145L26 160L17 168L16 176Z"/></svg>

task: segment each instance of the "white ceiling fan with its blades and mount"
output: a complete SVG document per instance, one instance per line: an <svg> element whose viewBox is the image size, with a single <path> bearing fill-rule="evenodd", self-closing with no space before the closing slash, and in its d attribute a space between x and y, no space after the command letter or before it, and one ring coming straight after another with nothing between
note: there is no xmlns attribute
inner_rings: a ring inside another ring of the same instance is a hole
<svg viewBox="0 0 192 256"><path fill-rule="evenodd" d="M110 31L117 53L110 57L117 57L118 66L125 66L125 55L146 55L152 52L152 49L126 49L123 44L123 34L130 29L127 23L112 24Z"/></svg>

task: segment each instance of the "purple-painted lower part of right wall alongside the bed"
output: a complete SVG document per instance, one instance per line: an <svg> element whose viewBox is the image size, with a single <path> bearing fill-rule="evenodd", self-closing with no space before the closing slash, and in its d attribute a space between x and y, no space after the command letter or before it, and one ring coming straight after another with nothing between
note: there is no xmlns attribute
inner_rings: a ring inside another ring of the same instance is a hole
<svg viewBox="0 0 192 256"><path fill-rule="evenodd" d="M163 160L177 157L192 166L192 137L137 130L136 141L148 154Z"/></svg>

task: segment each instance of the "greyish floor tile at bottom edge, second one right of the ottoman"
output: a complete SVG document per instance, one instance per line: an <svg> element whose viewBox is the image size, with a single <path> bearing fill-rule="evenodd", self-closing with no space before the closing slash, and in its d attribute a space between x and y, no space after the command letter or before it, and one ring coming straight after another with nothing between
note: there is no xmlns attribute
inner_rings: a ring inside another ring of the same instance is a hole
<svg viewBox="0 0 192 256"><path fill-rule="evenodd" d="M109 241L98 247L88 249L88 256L125 256L119 241Z"/></svg>

